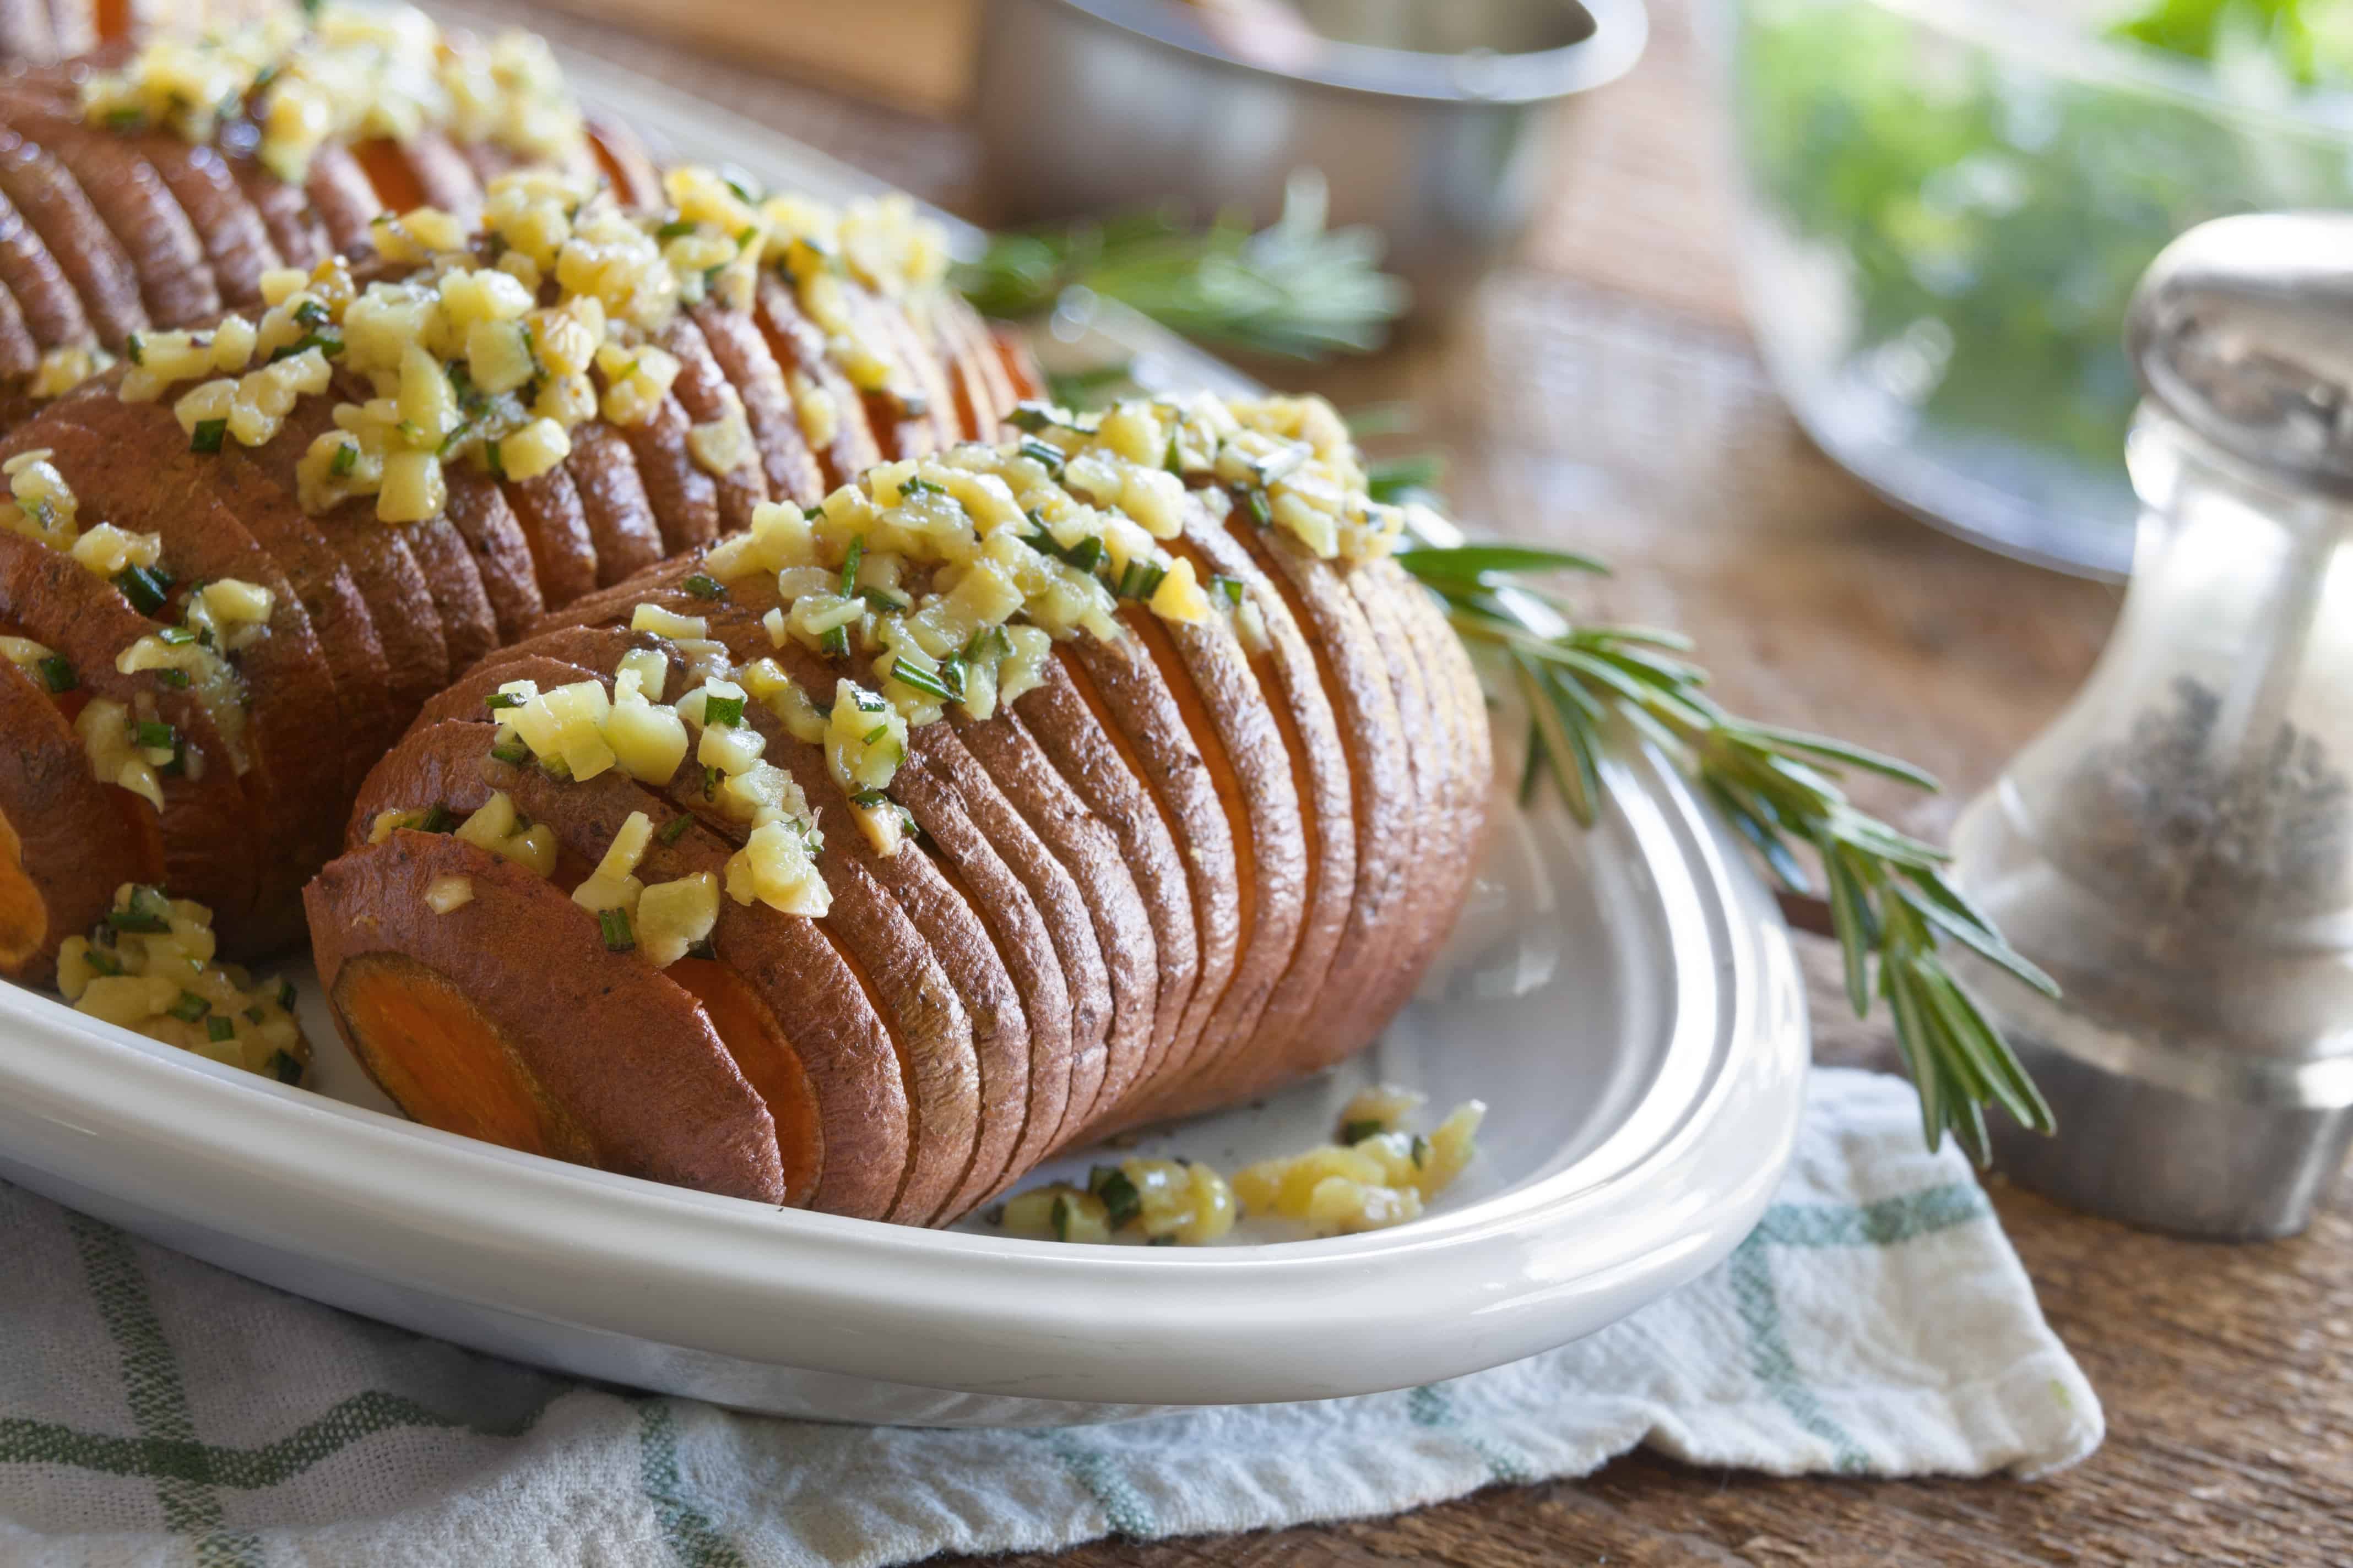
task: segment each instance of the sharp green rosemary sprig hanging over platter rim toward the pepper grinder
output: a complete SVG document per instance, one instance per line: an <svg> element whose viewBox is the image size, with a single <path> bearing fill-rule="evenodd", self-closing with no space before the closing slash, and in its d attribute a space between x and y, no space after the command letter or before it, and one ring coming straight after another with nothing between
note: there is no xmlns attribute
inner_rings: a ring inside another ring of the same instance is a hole
<svg viewBox="0 0 2353 1568"><path fill-rule="evenodd" d="M1798 856L1814 851L1847 1001L1857 1018L1871 1011L1873 994L1887 1001L1929 1147L1953 1133L1986 1164L1986 1105L2052 1131L2049 1105L1939 947L1962 943L2045 994L2057 997L2057 985L1946 882L1941 849L1859 811L1838 788L1845 769L1915 790L1934 790L1934 778L1861 745L1741 719L1701 691L1708 677L1682 658L1685 637L1584 625L1555 595L1515 581L1605 571L1595 559L1527 545L1417 545L1398 562L1438 595L1468 644L1499 656L1527 701L1522 799L1539 773L1551 773L1569 813L1591 825L1607 788L1605 738L1612 722L1624 722L1692 778L1781 886L1814 893Z"/></svg>

